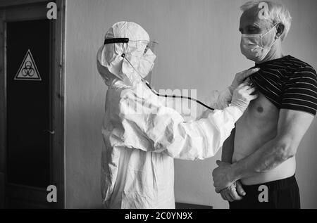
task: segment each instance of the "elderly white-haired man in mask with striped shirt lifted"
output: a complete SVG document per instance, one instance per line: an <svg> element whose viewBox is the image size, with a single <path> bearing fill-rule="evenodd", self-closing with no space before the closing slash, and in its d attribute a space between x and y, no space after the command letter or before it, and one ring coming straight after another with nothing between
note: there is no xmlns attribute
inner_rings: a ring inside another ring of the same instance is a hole
<svg viewBox="0 0 317 223"><path fill-rule="evenodd" d="M295 155L316 115L316 71L282 53L291 26L285 6L250 1L242 11L241 51L261 68L251 78L259 98L225 141L214 186L230 209L300 208Z"/></svg>

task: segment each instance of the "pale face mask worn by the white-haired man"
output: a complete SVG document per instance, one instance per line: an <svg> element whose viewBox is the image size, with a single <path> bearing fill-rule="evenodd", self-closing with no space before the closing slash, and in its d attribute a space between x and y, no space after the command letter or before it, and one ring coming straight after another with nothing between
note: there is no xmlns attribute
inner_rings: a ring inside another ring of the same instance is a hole
<svg viewBox="0 0 317 223"><path fill-rule="evenodd" d="M271 30L277 25L278 24L274 25ZM242 34L240 44L242 54L256 63L264 60L277 40L273 40L272 44L269 44L268 46L263 46L263 37L271 32L271 30L268 30L265 34Z"/></svg>

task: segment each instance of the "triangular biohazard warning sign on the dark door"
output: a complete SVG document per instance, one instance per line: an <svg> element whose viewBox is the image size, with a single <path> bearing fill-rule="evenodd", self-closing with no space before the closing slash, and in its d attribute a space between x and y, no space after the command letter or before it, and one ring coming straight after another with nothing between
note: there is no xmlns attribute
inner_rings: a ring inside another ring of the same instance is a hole
<svg viewBox="0 0 317 223"><path fill-rule="evenodd" d="M39 76L39 70L33 59L30 49L27 51L25 58L18 70L18 73L14 77L15 80L42 80Z"/></svg>

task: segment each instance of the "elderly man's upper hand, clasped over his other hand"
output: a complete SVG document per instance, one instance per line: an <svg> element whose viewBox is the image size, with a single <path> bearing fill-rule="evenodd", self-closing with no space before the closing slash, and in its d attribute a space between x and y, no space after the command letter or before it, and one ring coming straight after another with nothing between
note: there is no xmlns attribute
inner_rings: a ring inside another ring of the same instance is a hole
<svg viewBox="0 0 317 223"><path fill-rule="evenodd" d="M213 186L215 186L216 193L228 188L235 183L232 180L232 167L230 163L225 163L217 160L218 167L213 170Z"/></svg>

